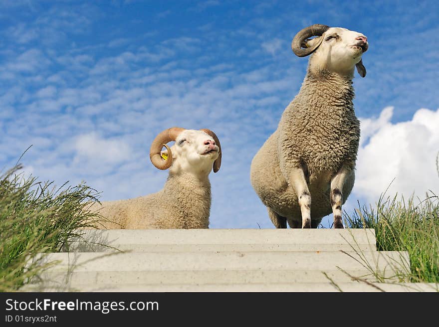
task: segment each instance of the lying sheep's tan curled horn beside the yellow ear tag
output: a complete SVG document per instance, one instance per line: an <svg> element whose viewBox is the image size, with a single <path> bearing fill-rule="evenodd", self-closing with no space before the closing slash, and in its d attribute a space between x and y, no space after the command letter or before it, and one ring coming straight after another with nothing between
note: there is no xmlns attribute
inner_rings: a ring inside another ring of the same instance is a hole
<svg viewBox="0 0 439 327"><path fill-rule="evenodd" d="M168 142L175 141L177 136L184 130L184 128L172 127L160 132L159 135L156 136L153 143L151 144L151 149L149 151L149 158L151 159L151 162L156 166L156 168L165 170L171 166L172 152L166 144ZM166 160L164 160L160 155L163 147L166 147L166 149L168 150L168 159Z"/></svg>

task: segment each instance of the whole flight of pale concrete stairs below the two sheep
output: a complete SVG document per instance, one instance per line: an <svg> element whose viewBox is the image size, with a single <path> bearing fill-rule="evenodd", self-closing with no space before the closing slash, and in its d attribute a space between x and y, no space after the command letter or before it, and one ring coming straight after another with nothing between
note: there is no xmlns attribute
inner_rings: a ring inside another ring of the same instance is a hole
<svg viewBox="0 0 439 327"><path fill-rule="evenodd" d="M404 281L407 252L373 229L84 230L23 291L437 291ZM386 283L377 283L377 276Z"/></svg>

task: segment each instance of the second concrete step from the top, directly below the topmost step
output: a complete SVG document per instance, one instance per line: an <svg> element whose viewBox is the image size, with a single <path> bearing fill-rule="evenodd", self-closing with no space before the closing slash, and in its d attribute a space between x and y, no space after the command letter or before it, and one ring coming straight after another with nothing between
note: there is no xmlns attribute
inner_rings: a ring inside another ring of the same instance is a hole
<svg viewBox="0 0 439 327"><path fill-rule="evenodd" d="M354 257L354 258L352 258ZM176 270L407 270L408 253L396 251L349 254L316 252L72 252L50 253L44 262L59 261L49 271L176 271Z"/></svg>

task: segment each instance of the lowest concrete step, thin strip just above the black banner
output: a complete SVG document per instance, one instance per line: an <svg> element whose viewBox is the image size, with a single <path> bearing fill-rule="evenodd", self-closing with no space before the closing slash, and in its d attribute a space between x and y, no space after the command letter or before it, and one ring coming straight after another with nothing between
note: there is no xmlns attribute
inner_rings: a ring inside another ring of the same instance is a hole
<svg viewBox="0 0 439 327"><path fill-rule="evenodd" d="M204 284L204 285L149 285L149 284L82 284L27 285L26 292L439 292L434 283L364 283L344 282L285 283L285 284Z"/></svg>

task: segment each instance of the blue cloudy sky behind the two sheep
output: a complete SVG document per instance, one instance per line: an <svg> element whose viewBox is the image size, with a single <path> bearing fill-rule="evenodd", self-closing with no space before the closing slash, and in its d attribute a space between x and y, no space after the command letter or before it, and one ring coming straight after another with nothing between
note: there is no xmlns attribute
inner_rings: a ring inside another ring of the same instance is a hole
<svg viewBox="0 0 439 327"><path fill-rule="evenodd" d="M354 78L361 120L345 209L439 193L437 1L0 0L0 171L85 180L101 200L162 188L149 161L163 129L209 128L223 150L210 176L211 228L273 228L250 163L305 76L290 43L313 23L368 36ZM329 218L329 219L328 219ZM323 219L327 226L331 217Z"/></svg>

